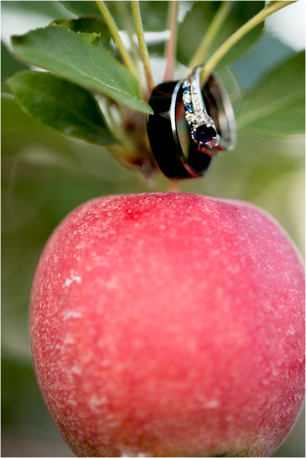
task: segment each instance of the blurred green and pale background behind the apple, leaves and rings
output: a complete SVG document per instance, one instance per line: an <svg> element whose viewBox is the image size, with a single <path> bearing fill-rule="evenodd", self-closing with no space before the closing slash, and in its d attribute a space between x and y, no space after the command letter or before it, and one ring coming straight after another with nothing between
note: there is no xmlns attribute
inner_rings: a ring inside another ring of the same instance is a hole
<svg viewBox="0 0 306 458"><path fill-rule="evenodd" d="M193 3L180 2L181 17L184 8L186 13ZM58 17L76 16L56 1L2 1L1 10L1 90L6 90L2 83L7 73L22 68L10 60L9 35L45 26ZM156 83L162 81L164 71L163 47L162 43L151 49ZM275 24L267 24L260 40L246 55L219 70L234 107L241 94L301 49L279 37ZM177 77L182 69L178 63ZM50 420L33 374L27 313L35 264L52 230L80 203L108 194L166 191L167 180L160 174L148 183L141 174L120 165L105 147L63 136L38 124L6 92L1 93L1 114L1 456L74 456ZM181 191L259 205L279 220L304 256L304 151L304 136L278 139L240 134L234 151L218 158L204 179L182 183ZM273 456L305 457L305 413Z"/></svg>

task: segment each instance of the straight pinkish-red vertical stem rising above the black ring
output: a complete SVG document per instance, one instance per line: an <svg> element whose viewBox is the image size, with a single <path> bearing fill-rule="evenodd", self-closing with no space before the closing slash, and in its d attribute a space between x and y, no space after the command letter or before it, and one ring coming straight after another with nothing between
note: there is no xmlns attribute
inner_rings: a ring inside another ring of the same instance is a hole
<svg viewBox="0 0 306 458"><path fill-rule="evenodd" d="M168 15L168 30L171 35L166 44L166 71L164 81L172 81L174 74L175 56L176 56L176 41L177 41L177 5L176 0L169 2L169 15Z"/></svg>

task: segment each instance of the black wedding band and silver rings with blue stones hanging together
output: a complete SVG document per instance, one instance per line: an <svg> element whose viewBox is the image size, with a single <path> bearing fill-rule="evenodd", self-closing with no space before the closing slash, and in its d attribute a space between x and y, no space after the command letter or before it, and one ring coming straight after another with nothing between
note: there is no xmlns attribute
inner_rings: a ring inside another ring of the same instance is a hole
<svg viewBox="0 0 306 458"><path fill-rule="evenodd" d="M169 178L201 177L212 168L216 155L235 146L236 124L229 96L215 74L201 88L201 69L196 67L185 80L159 84L149 100L154 112L147 123L152 152ZM189 131L185 153L178 134L184 115Z"/></svg>

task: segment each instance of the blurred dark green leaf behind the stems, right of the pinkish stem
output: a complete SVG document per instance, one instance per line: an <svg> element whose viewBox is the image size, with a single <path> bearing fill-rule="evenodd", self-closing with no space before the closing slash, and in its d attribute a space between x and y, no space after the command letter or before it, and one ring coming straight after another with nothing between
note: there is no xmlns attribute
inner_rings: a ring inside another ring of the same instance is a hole
<svg viewBox="0 0 306 458"><path fill-rule="evenodd" d="M187 13L184 22L180 24L178 34L177 59L184 65L191 60L192 55L206 33L214 14L218 10L219 1L199 1ZM255 16L264 7L264 1L235 1L228 18L217 38L209 48L208 57L219 48L238 28ZM224 67L243 55L247 49L260 37L263 23L252 29L219 62L218 67ZM204 64L205 62L203 62Z"/></svg>

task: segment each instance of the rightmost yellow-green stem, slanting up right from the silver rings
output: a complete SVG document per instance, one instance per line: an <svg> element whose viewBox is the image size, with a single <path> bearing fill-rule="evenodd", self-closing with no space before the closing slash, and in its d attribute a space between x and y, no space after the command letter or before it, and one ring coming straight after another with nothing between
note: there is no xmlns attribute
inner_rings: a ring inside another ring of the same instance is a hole
<svg viewBox="0 0 306 458"><path fill-rule="evenodd" d="M260 11L257 15L252 17L250 21L246 22L242 27L236 30L233 35L230 36L224 43L215 51L215 53L208 59L207 63L205 64L202 75L201 75L201 85L207 82L209 75L212 73L213 69L216 65L219 64L220 60L225 56L225 54L240 40L246 33L250 32L252 28L256 27L262 21L266 19L266 17L270 16L271 14L275 13L275 11L281 10L287 5L291 3L295 3L294 1L270 1L267 6L265 6L262 11Z"/></svg>

